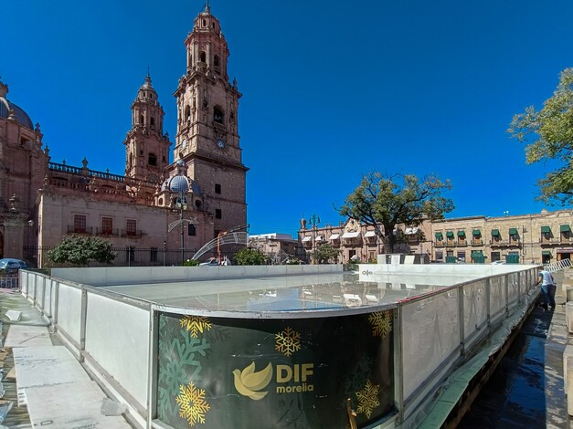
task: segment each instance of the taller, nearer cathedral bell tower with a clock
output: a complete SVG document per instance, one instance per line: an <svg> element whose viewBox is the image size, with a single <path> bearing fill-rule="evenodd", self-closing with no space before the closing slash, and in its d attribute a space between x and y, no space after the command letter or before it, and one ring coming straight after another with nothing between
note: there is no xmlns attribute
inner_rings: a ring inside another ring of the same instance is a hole
<svg viewBox="0 0 573 429"><path fill-rule="evenodd" d="M186 74L175 90L177 134L174 160L186 162L213 215L215 233L246 225L245 176L241 161L237 81L227 74L228 47L218 19L205 10L185 40Z"/></svg>

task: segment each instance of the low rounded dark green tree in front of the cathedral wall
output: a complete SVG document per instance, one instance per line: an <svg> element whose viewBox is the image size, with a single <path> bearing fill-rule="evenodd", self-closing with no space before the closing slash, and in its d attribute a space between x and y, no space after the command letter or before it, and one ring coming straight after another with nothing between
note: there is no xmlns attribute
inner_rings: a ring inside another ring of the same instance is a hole
<svg viewBox="0 0 573 429"><path fill-rule="evenodd" d="M99 237L72 235L64 237L56 247L48 251L47 256L56 264L87 266L90 261L110 264L117 255L111 251L109 241Z"/></svg>

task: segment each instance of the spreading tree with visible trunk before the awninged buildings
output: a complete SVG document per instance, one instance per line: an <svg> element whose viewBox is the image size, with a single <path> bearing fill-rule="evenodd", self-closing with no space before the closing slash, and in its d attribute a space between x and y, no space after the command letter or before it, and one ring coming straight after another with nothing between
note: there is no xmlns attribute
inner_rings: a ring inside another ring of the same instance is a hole
<svg viewBox="0 0 573 429"><path fill-rule="evenodd" d="M450 189L449 180L441 182L435 175L420 181L413 174L368 173L354 192L346 196L338 213L362 225L374 226L385 251L392 253L398 242L396 225L419 226L425 219L442 219L453 210L451 199L441 196Z"/></svg>

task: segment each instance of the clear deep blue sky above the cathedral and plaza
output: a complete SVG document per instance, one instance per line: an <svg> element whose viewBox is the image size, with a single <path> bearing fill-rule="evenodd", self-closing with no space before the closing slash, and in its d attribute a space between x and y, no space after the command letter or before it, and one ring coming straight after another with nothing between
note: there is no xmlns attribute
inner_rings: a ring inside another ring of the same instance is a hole
<svg viewBox="0 0 573 429"><path fill-rule="evenodd" d="M123 174L131 103L149 67L175 137L184 39L199 0L5 2L0 76L39 122L52 162ZM251 234L293 234L362 174L450 179L448 217L538 213L536 181L505 132L573 66L570 0L212 0L237 78ZM173 155L172 155L173 156ZM173 161L173 160L171 160ZM552 209L551 207L547 207Z"/></svg>

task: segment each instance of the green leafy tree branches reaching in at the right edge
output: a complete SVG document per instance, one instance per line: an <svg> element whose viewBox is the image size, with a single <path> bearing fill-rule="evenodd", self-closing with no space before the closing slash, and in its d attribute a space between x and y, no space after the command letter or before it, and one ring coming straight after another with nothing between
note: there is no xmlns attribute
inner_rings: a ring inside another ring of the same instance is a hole
<svg viewBox="0 0 573 429"><path fill-rule="evenodd" d="M533 106L514 116L507 130L525 142L525 162L557 160L560 167L539 179L537 201L546 204L573 203L573 68L561 72L553 97L541 110Z"/></svg>

